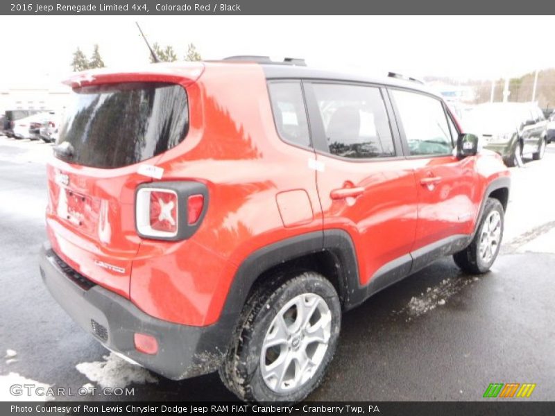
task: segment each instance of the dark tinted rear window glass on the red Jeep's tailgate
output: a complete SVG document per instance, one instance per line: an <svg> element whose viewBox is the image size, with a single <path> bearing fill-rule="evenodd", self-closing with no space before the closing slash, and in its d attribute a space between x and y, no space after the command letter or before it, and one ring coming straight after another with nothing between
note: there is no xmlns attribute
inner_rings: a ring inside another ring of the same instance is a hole
<svg viewBox="0 0 555 416"><path fill-rule="evenodd" d="M74 89L56 153L66 162L119 168L173 148L187 135L189 107L180 85L119 83Z"/></svg>

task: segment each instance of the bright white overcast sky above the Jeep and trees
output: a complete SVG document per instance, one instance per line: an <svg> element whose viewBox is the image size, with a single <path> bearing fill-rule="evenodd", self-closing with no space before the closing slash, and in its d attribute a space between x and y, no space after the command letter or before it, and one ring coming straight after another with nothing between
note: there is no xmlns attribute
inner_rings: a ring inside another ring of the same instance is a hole
<svg viewBox="0 0 555 416"><path fill-rule="evenodd" d="M310 66L384 75L502 78L555 67L553 17L0 17L0 87L58 82L77 46L100 46L120 67L148 61L151 42L182 58L193 42L205 59L305 58Z"/></svg>

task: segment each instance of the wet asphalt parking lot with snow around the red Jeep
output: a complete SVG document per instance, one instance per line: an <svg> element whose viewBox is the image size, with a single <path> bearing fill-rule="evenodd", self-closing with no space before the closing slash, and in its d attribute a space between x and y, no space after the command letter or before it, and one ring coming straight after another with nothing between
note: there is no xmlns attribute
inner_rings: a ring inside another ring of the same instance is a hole
<svg viewBox="0 0 555 416"><path fill-rule="evenodd" d="M169 381L110 355L51 298L37 266L49 153L42 141L0 136L0 400L22 381L89 391L60 401L233 400L217 374ZM445 258L346 313L309 400L475 401L489 383L536 383L530 399L555 399L555 144L511 171L493 270L472 278ZM105 386L134 394L92 393Z"/></svg>

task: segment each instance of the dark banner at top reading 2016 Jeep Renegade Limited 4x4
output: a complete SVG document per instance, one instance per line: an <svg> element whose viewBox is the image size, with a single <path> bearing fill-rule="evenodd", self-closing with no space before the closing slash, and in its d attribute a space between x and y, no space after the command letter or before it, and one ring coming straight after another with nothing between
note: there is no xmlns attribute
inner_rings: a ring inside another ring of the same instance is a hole
<svg viewBox="0 0 555 416"><path fill-rule="evenodd" d="M555 1L8 0L1 15L550 15ZM400 28L402 30L402 28ZM514 28L507 28L513 30ZM484 28L456 28L484 30Z"/></svg>

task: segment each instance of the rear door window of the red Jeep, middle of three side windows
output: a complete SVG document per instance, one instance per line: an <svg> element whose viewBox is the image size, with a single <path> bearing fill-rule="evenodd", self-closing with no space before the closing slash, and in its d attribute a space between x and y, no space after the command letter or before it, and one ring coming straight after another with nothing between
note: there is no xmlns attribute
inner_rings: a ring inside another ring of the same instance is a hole
<svg viewBox="0 0 555 416"><path fill-rule="evenodd" d="M314 95L332 155L395 156L382 93L364 85L314 83Z"/></svg>

